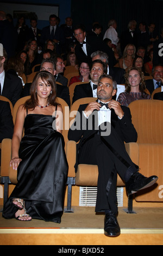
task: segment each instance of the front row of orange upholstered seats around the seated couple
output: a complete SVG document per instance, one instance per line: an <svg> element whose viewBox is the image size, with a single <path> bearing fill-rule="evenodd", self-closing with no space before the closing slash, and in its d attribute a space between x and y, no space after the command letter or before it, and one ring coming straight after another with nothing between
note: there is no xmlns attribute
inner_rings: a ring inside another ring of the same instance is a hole
<svg viewBox="0 0 163 256"><path fill-rule="evenodd" d="M17 108L30 96L21 98L17 101L12 111L13 121L15 122L15 116ZM58 103L62 105L64 111L64 121L67 120L68 107L64 100L57 98ZM78 110L80 104L89 103L95 100L95 98L79 99L71 106L69 121L72 122L75 112ZM157 175L159 177L158 184L154 189L147 189L148 193L143 195L136 195L136 200L139 201L156 201L162 202L162 198L159 197L159 187L163 183L163 102L161 100L136 100L129 105L132 121L137 130L138 138L137 142L131 142L125 144L126 150L129 153L133 162L140 166L141 173L145 176ZM73 112L72 112L73 111ZM68 112L69 114L69 112ZM71 198L72 198L72 186L97 186L98 168L96 165L78 165L77 174L74 171L74 164L76 163L76 142L68 141L67 138L68 129L64 127L62 132L65 139L65 150L68 161L68 178L67 178L67 211L71 211ZM2 163L1 163L1 183L4 183L4 201L8 197L8 184L17 183L17 172L9 167L9 161L11 157L11 140L4 139L2 141ZM125 186L124 182L118 176L117 186ZM132 212L133 199L129 197L128 211Z"/></svg>

